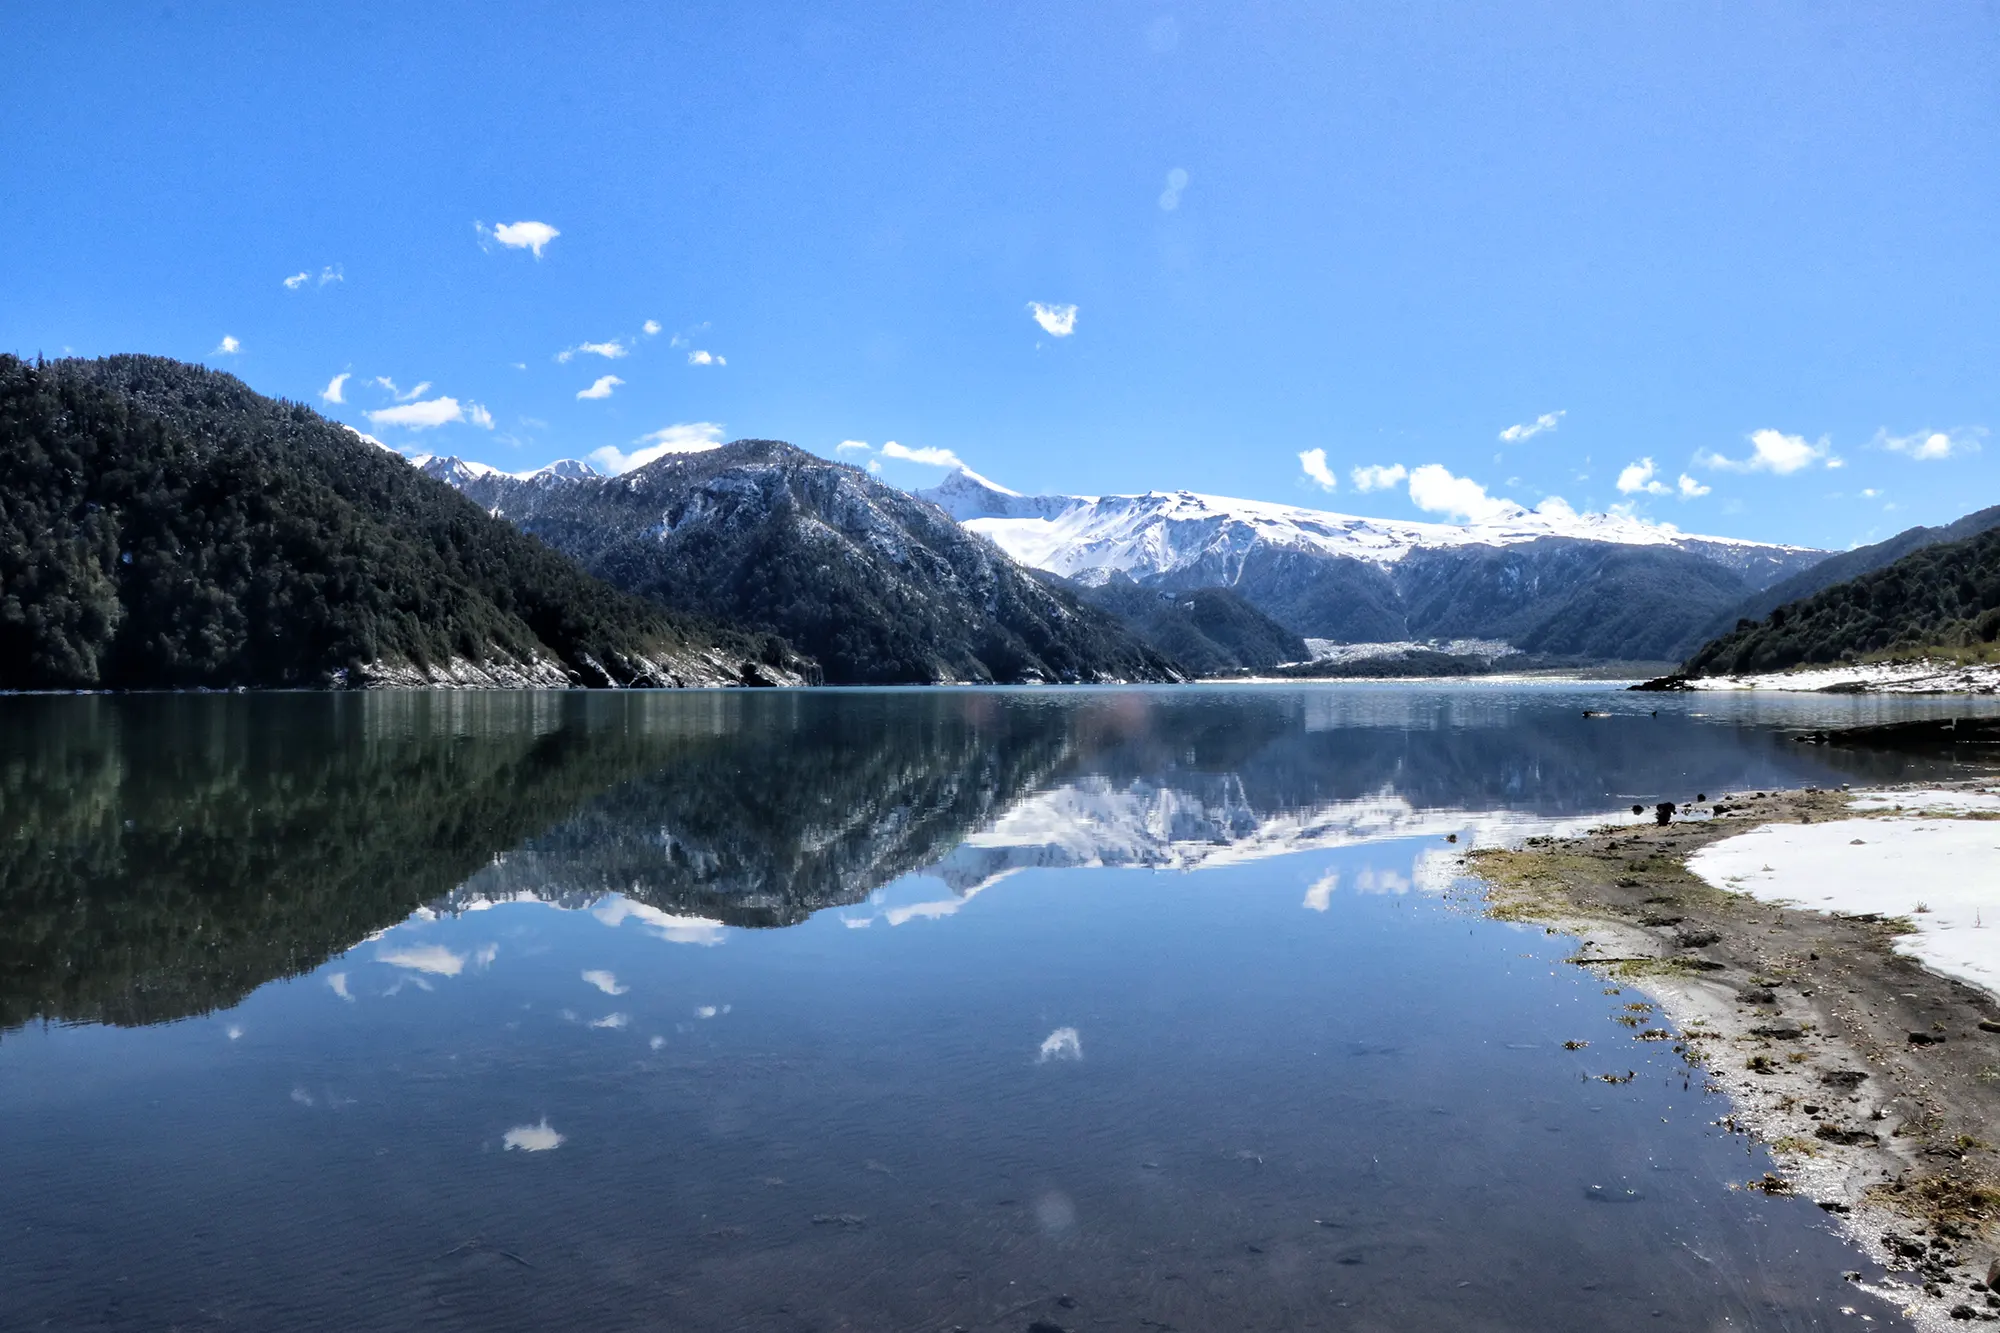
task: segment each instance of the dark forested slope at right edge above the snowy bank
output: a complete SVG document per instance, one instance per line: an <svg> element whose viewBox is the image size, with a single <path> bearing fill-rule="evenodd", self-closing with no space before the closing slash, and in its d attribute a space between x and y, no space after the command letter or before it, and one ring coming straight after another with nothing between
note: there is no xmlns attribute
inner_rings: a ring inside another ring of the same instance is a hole
<svg viewBox="0 0 2000 1333"><path fill-rule="evenodd" d="M1784 671L1926 648L1990 652L2000 638L2000 528L1924 546L1744 620L1688 658L1690 677Z"/></svg>

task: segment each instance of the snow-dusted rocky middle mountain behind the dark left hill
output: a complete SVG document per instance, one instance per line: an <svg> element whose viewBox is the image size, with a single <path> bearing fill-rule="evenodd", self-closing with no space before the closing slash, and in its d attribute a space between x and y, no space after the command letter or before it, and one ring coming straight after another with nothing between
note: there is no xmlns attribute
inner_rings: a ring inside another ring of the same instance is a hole
<svg viewBox="0 0 2000 1333"><path fill-rule="evenodd" d="M828 683L1170 681L1114 618L936 506L778 440L616 478L426 470L618 588L784 634Z"/></svg>

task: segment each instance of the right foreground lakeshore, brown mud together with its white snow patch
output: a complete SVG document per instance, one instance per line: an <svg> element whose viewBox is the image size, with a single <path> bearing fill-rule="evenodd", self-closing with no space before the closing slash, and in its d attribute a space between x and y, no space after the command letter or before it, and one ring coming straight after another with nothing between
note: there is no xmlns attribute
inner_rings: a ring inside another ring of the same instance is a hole
<svg viewBox="0 0 2000 1333"><path fill-rule="evenodd" d="M2000 1321L2000 783L1734 793L1476 851L1484 909L1644 989L1772 1173L1914 1327ZM1700 819L1706 815L1706 819ZM1986 923L1992 915L1996 921ZM1644 1039L1644 1037L1640 1037ZM1844 1313L1860 1315L1848 1307Z"/></svg>

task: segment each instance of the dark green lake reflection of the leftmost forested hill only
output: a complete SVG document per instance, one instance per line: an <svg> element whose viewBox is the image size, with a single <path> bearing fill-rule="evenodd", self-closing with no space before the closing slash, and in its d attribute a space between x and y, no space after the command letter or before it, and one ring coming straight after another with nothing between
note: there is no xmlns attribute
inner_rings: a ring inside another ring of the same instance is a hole
<svg viewBox="0 0 2000 1333"><path fill-rule="evenodd" d="M646 761L570 713L546 695L6 701L0 1029L234 1005L402 921Z"/></svg>

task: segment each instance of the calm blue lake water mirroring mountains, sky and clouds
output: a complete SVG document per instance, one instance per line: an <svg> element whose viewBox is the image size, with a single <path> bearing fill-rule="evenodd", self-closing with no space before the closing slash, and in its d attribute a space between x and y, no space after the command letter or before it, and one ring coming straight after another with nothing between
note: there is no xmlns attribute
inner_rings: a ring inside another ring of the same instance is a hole
<svg viewBox="0 0 2000 1333"><path fill-rule="evenodd" d="M1444 835L1966 707L0 699L0 1327L1898 1327Z"/></svg>

